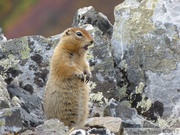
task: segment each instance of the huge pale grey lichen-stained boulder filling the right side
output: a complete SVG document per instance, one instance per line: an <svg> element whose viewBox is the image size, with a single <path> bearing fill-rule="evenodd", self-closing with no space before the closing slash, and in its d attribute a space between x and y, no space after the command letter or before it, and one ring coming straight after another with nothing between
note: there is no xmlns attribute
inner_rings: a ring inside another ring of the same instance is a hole
<svg viewBox="0 0 180 135"><path fill-rule="evenodd" d="M111 44L120 99L160 127L180 120L180 2L125 0Z"/></svg>

